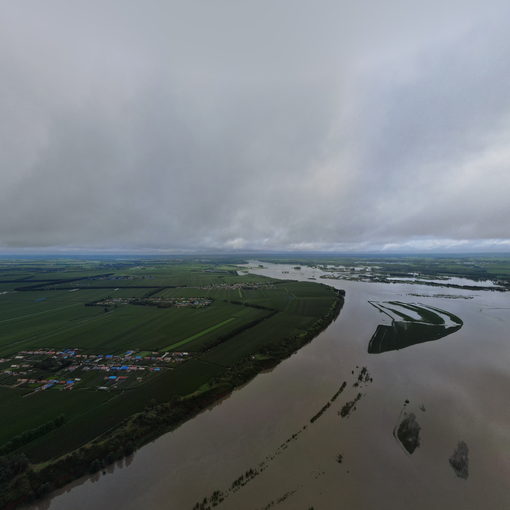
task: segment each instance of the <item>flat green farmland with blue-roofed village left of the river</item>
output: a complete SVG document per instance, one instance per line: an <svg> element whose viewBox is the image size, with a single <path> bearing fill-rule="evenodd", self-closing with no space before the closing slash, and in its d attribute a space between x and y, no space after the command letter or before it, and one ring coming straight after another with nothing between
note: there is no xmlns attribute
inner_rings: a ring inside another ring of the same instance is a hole
<svg viewBox="0 0 510 510"><path fill-rule="evenodd" d="M223 261L0 259L0 454L47 462L200 394L338 305Z"/></svg>

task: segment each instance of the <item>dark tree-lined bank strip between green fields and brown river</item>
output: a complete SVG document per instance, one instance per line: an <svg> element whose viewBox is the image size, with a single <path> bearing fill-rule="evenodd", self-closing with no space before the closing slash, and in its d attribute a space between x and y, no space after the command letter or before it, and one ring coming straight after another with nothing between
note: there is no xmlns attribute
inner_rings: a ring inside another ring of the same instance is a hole
<svg viewBox="0 0 510 510"><path fill-rule="evenodd" d="M4 458L0 466L0 507L8 510L41 498L84 475L103 470L131 455L162 434L176 429L204 409L228 396L258 373L288 358L336 319L344 304L345 293L334 291L328 311L306 331L269 343L227 368L213 381L184 397L164 403L151 403L114 430L49 463L30 465L23 455ZM3 476L3 478L2 478Z"/></svg>

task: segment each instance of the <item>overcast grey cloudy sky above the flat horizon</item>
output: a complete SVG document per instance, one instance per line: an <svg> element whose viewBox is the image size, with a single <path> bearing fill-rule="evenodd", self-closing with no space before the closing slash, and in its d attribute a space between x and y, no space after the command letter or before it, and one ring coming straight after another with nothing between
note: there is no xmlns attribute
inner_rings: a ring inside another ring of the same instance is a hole
<svg viewBox="0 0 510 510"><path fill-rule="evenodd" d="M510 4L0 0L0 251L510 251Z"/></svg>

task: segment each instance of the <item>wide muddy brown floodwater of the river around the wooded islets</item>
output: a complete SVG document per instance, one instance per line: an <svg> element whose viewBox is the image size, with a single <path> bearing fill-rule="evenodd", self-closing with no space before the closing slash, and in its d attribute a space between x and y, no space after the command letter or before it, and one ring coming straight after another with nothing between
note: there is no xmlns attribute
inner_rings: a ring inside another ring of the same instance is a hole
<svg viewBox="0 0 510 510"><path fill-rule="evenodd" d="M301 280L322 274L264 266L253 272ZM191 510L215 490L227 494L216 508L229 510L510 508L510 294L317 281L345 289L346 301L310 344L136 452L128 467L81 480L34 508ZM369 354L377 326L391 322L369 301L391 300L446 310L463 325L435 341ZM354 387L362 367L371 380ZM412 454L394 435L410 414L420 429ZM449 462L460 442L468 448L467 478ZM229 491L249 469L259 474Z"/></svg>

